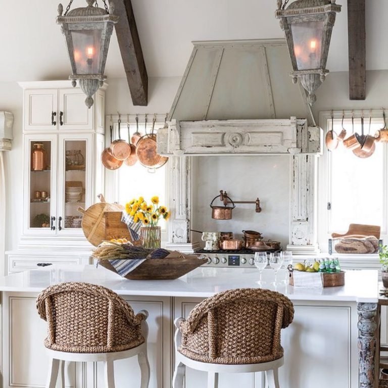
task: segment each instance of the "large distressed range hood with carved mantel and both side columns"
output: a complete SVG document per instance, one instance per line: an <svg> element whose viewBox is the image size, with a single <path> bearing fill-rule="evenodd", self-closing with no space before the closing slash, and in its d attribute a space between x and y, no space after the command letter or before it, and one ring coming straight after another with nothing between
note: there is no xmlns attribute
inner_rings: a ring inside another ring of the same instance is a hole
<svg viewBox="0 0 388 388"><path fill-rule="evenodd" d="M168 127L157 136L158 153L169 156L170 166L168 249L199 247L190 233L197 189L192 157L289 155L287 249L317 252L314 182L322 133L290 71L285 40L194 42Z"/></svg>

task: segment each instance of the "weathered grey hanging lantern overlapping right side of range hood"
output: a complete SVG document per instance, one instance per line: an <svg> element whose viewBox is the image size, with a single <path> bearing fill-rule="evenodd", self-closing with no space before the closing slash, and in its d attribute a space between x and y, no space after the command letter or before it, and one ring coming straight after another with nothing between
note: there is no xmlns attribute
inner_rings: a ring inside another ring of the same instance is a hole
<svg viewBox="0 0 388 388"><path fill-rule="evenodd" d="M308 91L307 101L313 105L315 91L325 80L327 55L335 14L341 12L336 0L297 0L287 9L282 0L277 0L275 16L285 33L288 50L293 64L293 82L301 79Z"/></svg>

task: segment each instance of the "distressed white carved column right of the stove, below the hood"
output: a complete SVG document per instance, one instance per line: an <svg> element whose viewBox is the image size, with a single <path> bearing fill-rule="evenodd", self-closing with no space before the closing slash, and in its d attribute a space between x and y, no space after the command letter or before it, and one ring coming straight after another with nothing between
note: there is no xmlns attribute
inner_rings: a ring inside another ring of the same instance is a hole
<svg viewBox="0 0 388 388"><path fill-rule="evenodd" d="M317 244L317 156L293 156L290 185L290 234L287 250L319 253Z"/></svg>

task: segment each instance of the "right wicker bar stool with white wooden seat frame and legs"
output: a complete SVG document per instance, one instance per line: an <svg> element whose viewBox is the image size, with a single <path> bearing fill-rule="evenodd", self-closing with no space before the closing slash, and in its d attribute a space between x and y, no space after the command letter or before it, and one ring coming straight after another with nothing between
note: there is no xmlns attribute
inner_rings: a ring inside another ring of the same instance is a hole
<svg viewBox="0 0 388 388"><path fill-rule="evenodd" d="M293 318L293 303L268 289L232 289L205 299L187 320L174 322L173 388L182 388L186 366L207 371L208 388L218 387L218 373L259 371L270 388L279 388L280 330Z"/></svg>

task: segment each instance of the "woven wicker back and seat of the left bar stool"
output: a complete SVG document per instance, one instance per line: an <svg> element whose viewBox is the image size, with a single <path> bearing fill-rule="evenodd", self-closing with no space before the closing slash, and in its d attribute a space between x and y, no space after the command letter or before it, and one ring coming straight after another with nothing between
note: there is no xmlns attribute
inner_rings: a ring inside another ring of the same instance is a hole
<svg viewBox="0 0 388 388"><path fill-rule="evenodd" d="M108 353L144 342L141 320L112 290L89 283L60 283L36 299L40 318L47 321L44 346L71 353Z"/></svg>

